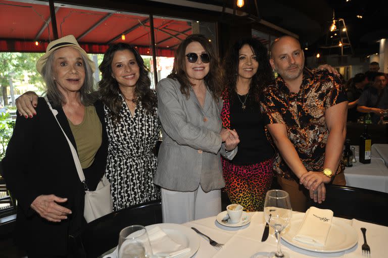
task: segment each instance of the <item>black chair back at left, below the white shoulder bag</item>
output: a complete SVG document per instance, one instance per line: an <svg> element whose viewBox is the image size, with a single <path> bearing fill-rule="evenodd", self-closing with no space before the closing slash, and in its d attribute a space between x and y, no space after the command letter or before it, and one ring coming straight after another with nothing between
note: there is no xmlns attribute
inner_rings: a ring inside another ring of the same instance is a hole
<svg viewBox="0 0 388 258"><path fill-rule="evenodd" d="M153 201L134 205L105 215L88 224L74 237L76 257L95 258L118 244L120 231L131 225L162 223L162 204Z"/></svg>

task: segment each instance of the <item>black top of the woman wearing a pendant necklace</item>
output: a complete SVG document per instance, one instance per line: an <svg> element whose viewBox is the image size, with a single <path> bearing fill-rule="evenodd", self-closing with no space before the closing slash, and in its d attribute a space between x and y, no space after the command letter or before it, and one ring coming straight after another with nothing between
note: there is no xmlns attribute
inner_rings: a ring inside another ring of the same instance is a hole
<svg viewBox="0 0 388 258"><path fill-rule="evenodd" d="M264 123L260 113L259 103L250 101L252 96L248 96L245 102L246 109L243 110L243 104L247 95L230 94L230 128L238 133L240 143L236 156L231 163L235 165L252 165L271 159L275 152L268 142Z"/></svg>

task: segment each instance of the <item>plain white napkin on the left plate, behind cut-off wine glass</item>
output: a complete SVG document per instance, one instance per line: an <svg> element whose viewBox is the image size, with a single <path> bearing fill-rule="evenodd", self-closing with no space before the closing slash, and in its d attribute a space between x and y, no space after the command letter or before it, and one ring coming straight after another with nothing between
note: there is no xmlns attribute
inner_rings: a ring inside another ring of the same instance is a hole
<svg viewBox="0 0 388 258"><path fill-rule="evenodd" d="M158 226L151 230L147 230L147 233L150 238L152 252L156 257L173 258L191 250L190 247L184 248L182 245L172 240ZM112 253L105 255L103 258L118 258L117 248Z"/></svg>

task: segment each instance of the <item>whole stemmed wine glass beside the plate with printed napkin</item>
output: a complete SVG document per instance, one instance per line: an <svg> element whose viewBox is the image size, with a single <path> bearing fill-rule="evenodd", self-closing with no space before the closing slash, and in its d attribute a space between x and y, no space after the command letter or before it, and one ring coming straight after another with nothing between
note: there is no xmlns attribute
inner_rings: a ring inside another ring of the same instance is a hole
<svg viewBox="0 0 388 258"><path fill-rule="evenodd" d="M283 190L269 190L265 195L264 217L268 225L275 229L277 238L277 251L271 252L270 258L289 258L288 253L282 252L280 248L280 234L287 227L292 217L291 202L289 195Z"/></svg>

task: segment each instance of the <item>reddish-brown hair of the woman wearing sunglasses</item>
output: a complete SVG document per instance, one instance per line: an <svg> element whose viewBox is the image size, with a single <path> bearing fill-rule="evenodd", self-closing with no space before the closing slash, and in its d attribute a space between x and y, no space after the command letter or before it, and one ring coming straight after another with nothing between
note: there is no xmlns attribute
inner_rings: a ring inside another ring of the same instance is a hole
<svg viewBox="0 0 388 258"><path fill-rule="evenodd" d="M185 51L187 45L191 42L199 42L205 48L206 53L210 57L209 73L205 76L204 81L209 91L212 93L212 97L218 101L224 88L220 76L219 59L216 51L209 42L209 39L207 39L204 35L189 35L179 44L175 54L174 68L167 77L178 80L180 83L180 92L187 98L190 96L191 84L186 73Z"/></svg>

